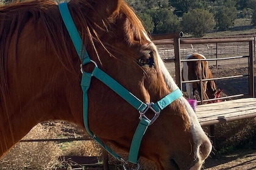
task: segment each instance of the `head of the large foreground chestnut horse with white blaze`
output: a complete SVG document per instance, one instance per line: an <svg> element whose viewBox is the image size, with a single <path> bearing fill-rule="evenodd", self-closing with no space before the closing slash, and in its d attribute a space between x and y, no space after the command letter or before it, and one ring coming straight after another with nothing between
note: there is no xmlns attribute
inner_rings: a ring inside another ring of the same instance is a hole
<svg viewBox="0 0 256 170"><path fill-rule="evenodd" d="M159 101L178 87L137 16L123 1L114 4L116 7L111 9L115 10L108 18L101 9L104 13L101 18L105 20L96 22L102 27L94 27L98 29L98 41L88 42L88 54L104 72L140 100L145 103ZM85 66L84 70L87 69ZM116 149L128 152L138 124L138 112L99 81L92 80L90 88L91 131ZM157 169L200 169L202 160L208 156L211 144L190 108L187 100L181 97L163 109L160 117L148 127L140 156L154 161ZM154 112L149 110L149 115L152 117Z"/></svg>

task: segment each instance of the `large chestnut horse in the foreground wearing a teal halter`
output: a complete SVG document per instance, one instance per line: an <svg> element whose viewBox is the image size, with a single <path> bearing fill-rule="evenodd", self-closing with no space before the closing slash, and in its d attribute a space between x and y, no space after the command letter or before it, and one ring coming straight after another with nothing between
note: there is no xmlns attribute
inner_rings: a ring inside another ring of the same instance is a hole
<svg viewBox="0 0 256 170"><path fill-rule="evenodd" d="M178 89L123 0L71 0L68 9L94 62L84 64L83 72L98 65L143 103L160 101ZM0 7L0 44L0 158L41 121L63 120L85 128L80 54L55 2ZM90 131L114 151L129 152L141 113L98 78L86 83ZM148 106L147 116L154 117ZM144 133L138 156L154 161L157 169L201 169L212 144L187 100L177 98L158 116Z"/></svg>

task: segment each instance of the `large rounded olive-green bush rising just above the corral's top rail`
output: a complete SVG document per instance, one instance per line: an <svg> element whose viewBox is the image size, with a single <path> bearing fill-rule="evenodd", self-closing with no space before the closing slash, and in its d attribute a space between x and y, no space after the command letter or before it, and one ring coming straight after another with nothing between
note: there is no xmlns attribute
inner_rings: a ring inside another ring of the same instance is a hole
<svg viewBox="0 0 256 170"><path fill-rule="evenodd" d="M204 36L207 30L215 27L213 13L203 9L193 9L183 14L181 25L184 31L196 37Z"/></svg>

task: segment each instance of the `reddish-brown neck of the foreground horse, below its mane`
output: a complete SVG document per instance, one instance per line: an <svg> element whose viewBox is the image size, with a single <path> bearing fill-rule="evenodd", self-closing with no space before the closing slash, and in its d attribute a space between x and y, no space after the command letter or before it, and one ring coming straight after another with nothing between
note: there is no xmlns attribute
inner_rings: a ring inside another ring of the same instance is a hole
<svg viewBox="0 0 256 170"><path fill-rule="evenodd" d="M24 28L21 37L34 39L33 35L40 36ZM5 97L0 100L0 157L41 121L82 124L82 115L78 114L82 112L82 90L77 76L80 70L76 75L66 70L51 49L40 45L45 42L20 39L21 51L10 52L7 58L8 93L2 94Z"/></svg>

